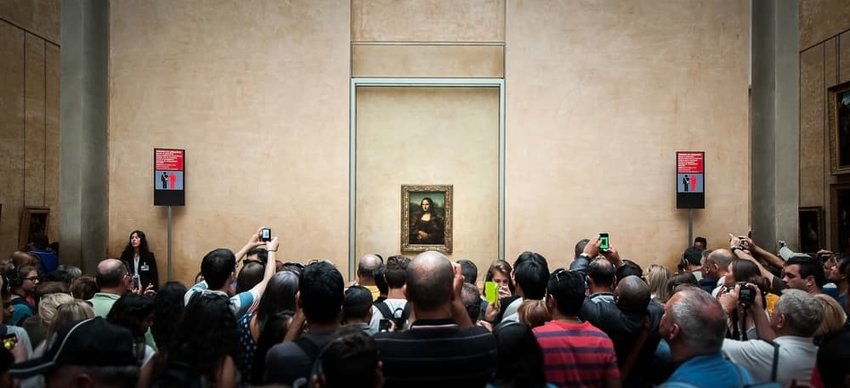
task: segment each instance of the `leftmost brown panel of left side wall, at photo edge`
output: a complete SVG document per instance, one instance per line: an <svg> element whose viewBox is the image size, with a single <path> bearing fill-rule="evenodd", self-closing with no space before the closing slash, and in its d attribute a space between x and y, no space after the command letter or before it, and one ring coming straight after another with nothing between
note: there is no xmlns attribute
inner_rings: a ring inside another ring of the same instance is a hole
<svg viewBox="0 0 850 388"><path fill-rule="evenodd" d="M0 21L0 250L18 248L24 206L25 32Z"/></svg>

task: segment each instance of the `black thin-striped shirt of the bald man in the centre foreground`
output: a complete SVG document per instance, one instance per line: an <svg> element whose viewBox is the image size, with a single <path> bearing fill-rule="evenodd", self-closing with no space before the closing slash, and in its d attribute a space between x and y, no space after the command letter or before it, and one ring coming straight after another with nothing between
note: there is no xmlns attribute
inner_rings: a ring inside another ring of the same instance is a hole
<svg viewBox="0 0 850 388"><path fill-rule="evenodd" d="M420 319L407 331L374 338L387 388L484 387L495 373L496 340L483 327Z"/></svg>

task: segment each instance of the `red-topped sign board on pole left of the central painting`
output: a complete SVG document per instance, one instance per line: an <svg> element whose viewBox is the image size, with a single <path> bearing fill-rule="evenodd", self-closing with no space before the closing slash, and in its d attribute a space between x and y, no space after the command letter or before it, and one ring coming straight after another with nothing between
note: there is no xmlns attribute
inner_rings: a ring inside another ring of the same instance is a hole
<svg viewBox="0 0 850 388"><path fill-rule="evenodd" d="M154 206L186 204L186 150L154 148Z"/></svg>

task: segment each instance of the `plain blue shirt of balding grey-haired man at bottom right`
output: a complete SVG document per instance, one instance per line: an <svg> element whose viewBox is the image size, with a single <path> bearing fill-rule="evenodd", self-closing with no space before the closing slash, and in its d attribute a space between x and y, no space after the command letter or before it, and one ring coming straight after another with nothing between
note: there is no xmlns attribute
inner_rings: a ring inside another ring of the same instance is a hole
<svg viewBox="0 0 850 388"><path fill-rule="evenodd" d="M735 388L752 384L753 378L746 369L733 364L717 352L685 361L661 387L681 386L676 383L699 388Z"/></svg>

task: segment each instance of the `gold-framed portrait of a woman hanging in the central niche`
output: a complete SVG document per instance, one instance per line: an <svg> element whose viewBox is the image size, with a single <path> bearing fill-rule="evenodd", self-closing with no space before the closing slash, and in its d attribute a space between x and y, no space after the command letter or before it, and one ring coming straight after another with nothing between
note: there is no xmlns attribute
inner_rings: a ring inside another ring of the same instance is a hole
<svg viewBox="0 0 850 388"><path fill-rule="evenodd" d="M401 251L452 252L452 186L401 186Z"/></svg>

